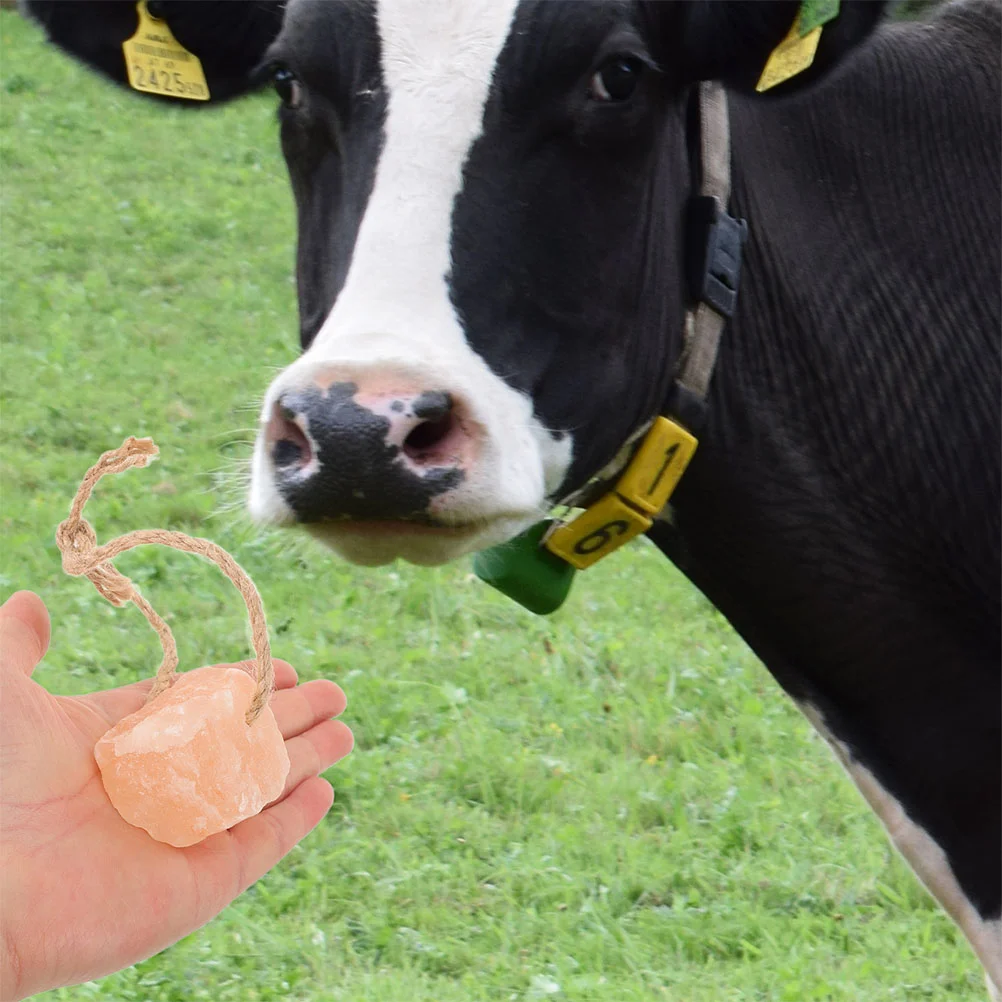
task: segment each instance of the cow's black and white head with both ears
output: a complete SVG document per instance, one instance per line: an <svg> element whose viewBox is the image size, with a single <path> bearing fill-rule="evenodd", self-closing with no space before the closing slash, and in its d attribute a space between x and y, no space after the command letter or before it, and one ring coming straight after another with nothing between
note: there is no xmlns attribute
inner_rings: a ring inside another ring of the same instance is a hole
<svg viewBox="0 0 1002 1002"><path fill-rule="evenodd" d="M122 79L130 4L30 6ZM781 92L880 6L844 2ZM283 7L150 4L213 96L267 76L281 98L303 354L265 397L250 511L358 562L438 563L537 520L660 409L685 307L688 94L750 92L800 4Z"/></svg>

